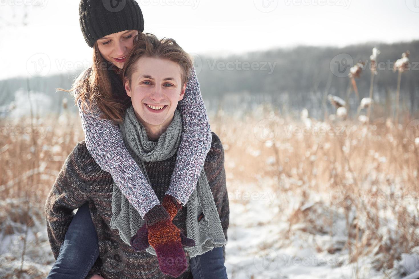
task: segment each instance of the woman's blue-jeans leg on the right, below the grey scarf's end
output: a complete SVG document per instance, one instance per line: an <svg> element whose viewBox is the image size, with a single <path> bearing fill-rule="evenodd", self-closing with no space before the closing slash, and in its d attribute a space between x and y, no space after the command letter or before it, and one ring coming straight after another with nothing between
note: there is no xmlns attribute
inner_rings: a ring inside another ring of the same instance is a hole
<svg viewBox="0 0 419 279"><path fill-rule="evenodd" d="M227 279L222 247L216 247L191 258L191 272L194 279Z"/></svg>

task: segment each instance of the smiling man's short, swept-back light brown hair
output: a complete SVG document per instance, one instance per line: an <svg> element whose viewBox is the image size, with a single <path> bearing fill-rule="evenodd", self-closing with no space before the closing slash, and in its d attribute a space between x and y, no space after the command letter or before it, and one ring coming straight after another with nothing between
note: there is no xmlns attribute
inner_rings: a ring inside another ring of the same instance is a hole
<svg viewBox="0 0 419 279"><path fill-rule="evenodd" d="M122 69L122 80L128 80L131 87L131 77L135 72L135 64L142 57L166 59L177 63L181 68L181 81L183 86L189 79L189 70L192 68L192 60L177 43L171 38L158 39L150 33L138 33L134 37L134 47L127 56L127 61Z"/></svg>

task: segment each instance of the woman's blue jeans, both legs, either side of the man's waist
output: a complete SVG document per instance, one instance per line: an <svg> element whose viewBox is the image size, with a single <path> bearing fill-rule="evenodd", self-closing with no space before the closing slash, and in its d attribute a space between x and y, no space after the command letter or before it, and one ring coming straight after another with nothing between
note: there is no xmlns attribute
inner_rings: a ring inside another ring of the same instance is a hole
<svg viewBox="0 0 419 279"><path fill-rule="evenodd" d="M98 236L86 202L72 219L47 279L84 279L98 256ZM227 278L222 247L192 258L190 264L194 279Z"/></svg>

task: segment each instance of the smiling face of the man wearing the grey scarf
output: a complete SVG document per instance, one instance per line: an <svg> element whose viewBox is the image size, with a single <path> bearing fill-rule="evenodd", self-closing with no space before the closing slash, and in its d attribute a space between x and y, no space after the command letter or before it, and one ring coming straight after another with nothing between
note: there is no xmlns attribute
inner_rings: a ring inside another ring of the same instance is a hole
<svg viewBox="0 0 419 279"><path fill-rule="evenodd" d="M146 128L167 127L185 94L181 67L170 60L142 57L134 69L131 84L125 81L125 90L131 97L137 119Z"/></svg>

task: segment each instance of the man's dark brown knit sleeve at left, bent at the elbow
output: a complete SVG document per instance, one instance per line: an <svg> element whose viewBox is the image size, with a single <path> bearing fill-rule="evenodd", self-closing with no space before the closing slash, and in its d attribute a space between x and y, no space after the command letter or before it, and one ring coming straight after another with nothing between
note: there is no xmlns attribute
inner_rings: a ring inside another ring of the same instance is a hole
<svg viewBox="0 0 419 279"><path fill-rule="evenodd" d="M73 210L89 200L90 196L85 189L86 185L81 179L78 159L73 150L55 179L44 207L49 244L55 260L75 215Z"/></svg>

